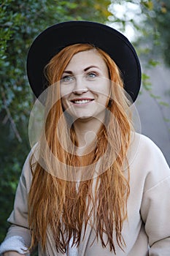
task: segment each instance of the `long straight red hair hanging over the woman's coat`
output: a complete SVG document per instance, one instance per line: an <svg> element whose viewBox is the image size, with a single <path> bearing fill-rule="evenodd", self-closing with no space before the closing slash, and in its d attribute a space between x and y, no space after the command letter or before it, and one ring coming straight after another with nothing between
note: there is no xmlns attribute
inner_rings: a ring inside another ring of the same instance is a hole
<svg viewBox="0 0 170 256"><path fill-rule="evenodd" d="M70 45L56 54L47 64L45 74L49 85L57 83L75 53L92 49L97 50L109 70L112 89L107 110L113 115L109 115L107 128L103 125L98 132L98 140L93 152L85 157L78 157L74 147L69 145L72 142L77 146L74 126L69 127L66 118L62 119L62 129L59 129L60 140L58 140L56 124L63 115L59 86L47 97L47 105L56 97L58 101L47 113L45 136L42 135L39 142L39 159L43 159L45 166L40 165L39 161L36 165L31 162L33 179L28 195L31 248L39 243L45 250L47 229L50 228L56 250L64 253L72 237L77 246L80 244L82 233L85 232L89 222L96 231L96 238L101 239L102 246L109 245L110 250L115 252L114 236L120 248L123 249L125 246L121 231L123 222L127 218L128 162L126 171L123 170L123 165L126 162L131 140L131 118L127 113L129 102L123 91L120 71L103 50L89 44L77 44ZM58 164L52 164L48 147L59 159ZM99 167L100 175L93 178L95 173L93 163L98 162L102 156L104 157ZM108 165L108 162L111 164ZM69 167L70 170L74 166L81 167L82 163L87 168L90 166L88 169L90 178L80 181L78 187L74 177L68 180L56 175L56 173L66 173ZM107 170L105 170L106 166L108 166ZM94 219L94 223L91 223L91 219ZM107 234L107 241L104 241L104 233Z"/></svg>

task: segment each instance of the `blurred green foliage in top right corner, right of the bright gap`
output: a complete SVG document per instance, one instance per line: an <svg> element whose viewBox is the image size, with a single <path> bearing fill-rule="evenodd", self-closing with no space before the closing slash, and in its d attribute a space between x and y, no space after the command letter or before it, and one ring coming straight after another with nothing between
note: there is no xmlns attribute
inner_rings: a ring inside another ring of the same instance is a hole
<svg viewBox="0 0 170 256"><path fill-rule="evenodd" d="M152 0L142 1L142 12L147 19L144 22L144 34L147 34L147 42L152 49L152 55L164 59L170 67L170 1ZM150 43L149 43L150 42ZM157 61L153 61L151 66L155 66Z"/></svg>

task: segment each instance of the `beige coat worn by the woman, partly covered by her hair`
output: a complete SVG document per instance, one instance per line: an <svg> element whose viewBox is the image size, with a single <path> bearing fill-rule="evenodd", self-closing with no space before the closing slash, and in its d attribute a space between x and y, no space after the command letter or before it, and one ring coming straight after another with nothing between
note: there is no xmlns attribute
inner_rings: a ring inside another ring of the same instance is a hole
<svg viewBox="0 0 170 256"><path fill-rule="evenodd" d="M7 237L23 236L28 245L30 232L27 221L27 195L31 186L29 157L23 166L15 197L15 206L8 221L12 223ZM169 256L170 255L170 170L157 146L143 135L135 135L128 152L131 193L128 198L128 221L123 224L125 248L116 246L117 256ZM101 242L92 244L94 230L88 226L79 246L79 256L109 256L113 252L102 248ZM39 248L39 255L43 255ZM45 255L57 253L50 230L47 233Z"/></svg>

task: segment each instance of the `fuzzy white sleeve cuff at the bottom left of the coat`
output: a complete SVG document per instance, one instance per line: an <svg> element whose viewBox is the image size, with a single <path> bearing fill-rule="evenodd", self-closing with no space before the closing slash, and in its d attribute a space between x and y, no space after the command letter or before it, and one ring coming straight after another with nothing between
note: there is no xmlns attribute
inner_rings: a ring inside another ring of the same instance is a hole
<svg viewBox="0 0 170 256"><path fill-rule="evenodd" d="M15 251L23 255L30 255L22 236L11 236L5 239L0 246L0 255L4 252Z"/></svg>

